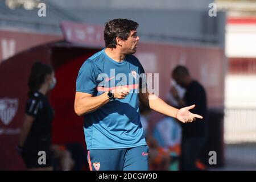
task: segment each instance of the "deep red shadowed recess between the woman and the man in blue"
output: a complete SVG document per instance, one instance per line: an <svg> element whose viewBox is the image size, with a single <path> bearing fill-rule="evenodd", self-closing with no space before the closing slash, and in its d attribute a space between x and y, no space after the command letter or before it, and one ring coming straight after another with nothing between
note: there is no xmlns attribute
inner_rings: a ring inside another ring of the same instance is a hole
<svg viewBox="0 0 256 182"><path fill-rule="evenodd" d="M53 48L52 64L57 79L50 96L55 109L53 143L79 142L85 146L84 118L74 111L76 78L82 63L95 52L93 49Z"/></svg>

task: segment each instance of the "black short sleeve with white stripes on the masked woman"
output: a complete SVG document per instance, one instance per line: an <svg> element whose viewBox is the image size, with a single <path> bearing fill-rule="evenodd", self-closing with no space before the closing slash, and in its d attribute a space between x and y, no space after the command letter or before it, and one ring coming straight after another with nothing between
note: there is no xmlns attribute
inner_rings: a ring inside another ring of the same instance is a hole
<svg viewBox="0 0 256 182"><path fill-rule="evenodd" d="M38 98L30 98L26 104L26 114L36 117L40 109L42 109L43 103Z"/></svg>

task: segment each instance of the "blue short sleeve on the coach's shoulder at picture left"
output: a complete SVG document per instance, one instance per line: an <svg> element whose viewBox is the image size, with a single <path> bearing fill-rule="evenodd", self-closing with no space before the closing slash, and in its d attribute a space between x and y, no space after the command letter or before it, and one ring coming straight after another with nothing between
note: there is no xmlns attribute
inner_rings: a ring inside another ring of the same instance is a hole
<svg viewBox="0 0 256 182"><path fill-rule="evenodd" d="M76 79L76 92L93 94L97 86L97 69L92 60L86 60Z"/></svg>

